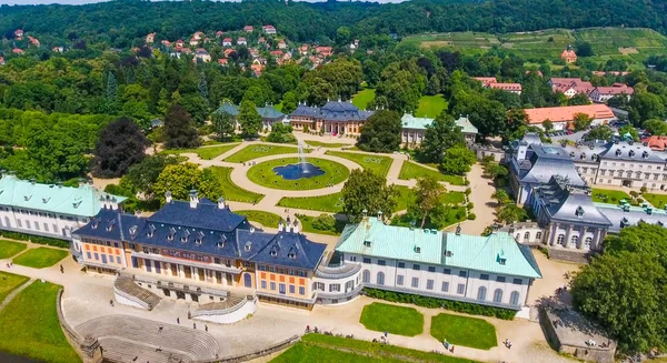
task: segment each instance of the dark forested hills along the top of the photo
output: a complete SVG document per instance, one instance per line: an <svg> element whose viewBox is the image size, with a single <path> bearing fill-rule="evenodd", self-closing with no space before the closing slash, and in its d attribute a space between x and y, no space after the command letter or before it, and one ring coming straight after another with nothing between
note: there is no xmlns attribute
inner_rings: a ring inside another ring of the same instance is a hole
<svg viewBox="0 0 667 363"><path fill-rule="evenodd" d="M78 37L125 48L138 46L153 31L161 39L178 39L198 30L228 31L267 23L293 41L320 43L335 39L340 27L349 28L352 36L361 39L387 33L505 33L609 26L651 28L665 33L665 0L414 0L398 4L123 0L77 7L2 6L0 34L11 39L12 32L22 28L40 34L47 43Z"/></svg>

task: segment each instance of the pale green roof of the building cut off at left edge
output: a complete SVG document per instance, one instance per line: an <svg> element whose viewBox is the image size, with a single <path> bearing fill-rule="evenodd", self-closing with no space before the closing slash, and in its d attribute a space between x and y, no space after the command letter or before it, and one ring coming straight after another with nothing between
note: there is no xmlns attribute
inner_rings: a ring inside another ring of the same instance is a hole
<svg viewBox="0 0 667 363"><path fill-rule="evenodd" d="M107 198L115 198L117 203L127 199L89 184L71 188L32 183L12 175L0 179L0 205L90 218L100 211Z"/></svg>

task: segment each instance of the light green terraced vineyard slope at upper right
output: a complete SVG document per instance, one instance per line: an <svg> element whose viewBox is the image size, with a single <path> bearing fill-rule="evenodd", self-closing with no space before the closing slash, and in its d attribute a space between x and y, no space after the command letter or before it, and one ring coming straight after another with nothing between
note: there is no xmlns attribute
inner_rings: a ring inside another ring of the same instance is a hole
<svg viewBox="0 0 667 363"><path fill-rule="evenodd" d="M466 54L500 47L527 60L550 60L558 58L568 44L578 40L593 46L596 60L619 58L641 62L649 56L667 53L667 37L655 30L641 28L550 29L499 36L485 32L428 33L407 37L402 42L448 48Z"/></svg>

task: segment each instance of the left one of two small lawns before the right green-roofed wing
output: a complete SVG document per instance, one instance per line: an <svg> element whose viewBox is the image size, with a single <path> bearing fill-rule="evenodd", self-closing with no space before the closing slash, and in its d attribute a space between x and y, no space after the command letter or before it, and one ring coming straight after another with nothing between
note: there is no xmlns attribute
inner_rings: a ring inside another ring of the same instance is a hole
<svg viewBox="0 0 667 363"><path fill-rule="evenodd" d="M372 303L364 306L359 320L368 330L405 336L421 334L424 315L414 307Z"/></svg>

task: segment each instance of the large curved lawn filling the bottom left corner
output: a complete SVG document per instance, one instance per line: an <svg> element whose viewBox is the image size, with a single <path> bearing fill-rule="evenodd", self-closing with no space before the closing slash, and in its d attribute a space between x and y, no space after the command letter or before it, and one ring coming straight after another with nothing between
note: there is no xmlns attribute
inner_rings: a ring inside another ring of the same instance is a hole
<svg viewBox="0 0 667 363"><path fill-rule="evenodd" d="M34 281L0 311L0 351L50 363L81 362L58 322L59 289Z"/></svg>

